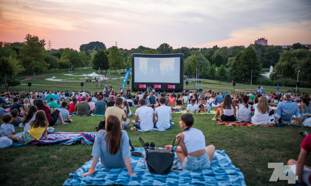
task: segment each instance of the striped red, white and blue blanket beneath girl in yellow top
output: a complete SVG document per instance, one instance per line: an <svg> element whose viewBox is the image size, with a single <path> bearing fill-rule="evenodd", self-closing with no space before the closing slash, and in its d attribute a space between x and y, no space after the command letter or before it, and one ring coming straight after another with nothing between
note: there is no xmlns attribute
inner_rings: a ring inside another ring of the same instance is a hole
<svg viewBox="0 0 311 186"><path fill-rule="evenodd" d="M48 140L44 140L42 137L40 140L33 140L28 143L32 145L37 144L60 144L60 145L72 145L75 143L82 143L85 145L91 145L94 143L97 132L55 132L48 134ZM13 143L12 146L26 145L27 143Z"/></svg>

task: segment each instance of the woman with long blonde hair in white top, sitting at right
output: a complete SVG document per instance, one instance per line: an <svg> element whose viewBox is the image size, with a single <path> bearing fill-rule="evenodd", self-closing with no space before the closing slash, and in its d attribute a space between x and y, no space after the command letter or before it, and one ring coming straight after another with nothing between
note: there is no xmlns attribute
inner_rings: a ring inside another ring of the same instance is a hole
<svg viewBox="0 0 311 186"><path fill-rule="evenodd" d="M254 116L252 117L253 124L268 124L269 112L271 107L268 105L266 96L260 96L258 104L254 106Z"/></svg>

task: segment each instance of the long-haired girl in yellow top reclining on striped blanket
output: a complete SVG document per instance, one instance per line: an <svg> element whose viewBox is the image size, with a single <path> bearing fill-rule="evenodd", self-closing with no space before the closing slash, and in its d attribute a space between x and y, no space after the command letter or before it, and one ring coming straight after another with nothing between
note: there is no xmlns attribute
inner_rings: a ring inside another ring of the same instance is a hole
<svg viewBox="0 0 311 186"><path fill-rule="evenodd" d="M35 120L31 122L30 126L30 130L7 136L7 138L19 143L28 143L32 140L40 140L42 134L44 134L44 139L48 140L49 122L43 110L36 113Z"/></svg>

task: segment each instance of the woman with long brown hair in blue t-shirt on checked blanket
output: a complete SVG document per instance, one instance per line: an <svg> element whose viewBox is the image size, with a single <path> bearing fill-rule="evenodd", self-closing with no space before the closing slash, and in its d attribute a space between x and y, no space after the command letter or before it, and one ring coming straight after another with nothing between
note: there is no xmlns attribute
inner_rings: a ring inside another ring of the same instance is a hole
<svg viewBox="0 0 311 186"><path fill-rule="evenodd" d="M104 168L120 169L126 167L131 176L131 153L129 138L126 131L121 130L120 120L113 115L106 118L106 129L99 130L93 145L93 162L88 172L82 174L86 177L94 173L99 158Z"/></svg>

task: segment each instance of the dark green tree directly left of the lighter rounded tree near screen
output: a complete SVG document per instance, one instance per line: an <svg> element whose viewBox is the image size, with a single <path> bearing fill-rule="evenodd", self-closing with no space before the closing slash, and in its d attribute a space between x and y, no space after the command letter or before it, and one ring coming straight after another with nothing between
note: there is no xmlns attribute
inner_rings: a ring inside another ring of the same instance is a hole
<svg viewBox="0 0 311 186"><path fill-rule="evenodd" d="M92 68L97 70L101 68L101 71L107 70L109 68L108 64L108 50L99 50L96 54L92 56Z"/></svg>

